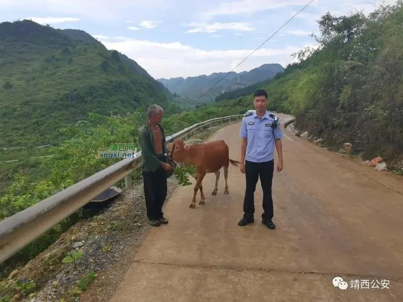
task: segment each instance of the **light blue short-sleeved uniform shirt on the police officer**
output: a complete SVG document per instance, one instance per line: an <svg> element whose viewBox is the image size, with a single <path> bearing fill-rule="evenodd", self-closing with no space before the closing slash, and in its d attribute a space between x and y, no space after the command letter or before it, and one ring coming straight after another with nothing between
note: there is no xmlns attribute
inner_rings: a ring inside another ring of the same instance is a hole
<svg viewBox="0 0 403 302"><path fill-rule="evenodd" d="M256 111L246 116L242 121L240 136L248 138L245 160L248 162L263 163L274 158L274 139L282 137L280 120L277 120L277 127L273 129L270 125L274 118L266 110L265 115L260 119Z"/></svg>

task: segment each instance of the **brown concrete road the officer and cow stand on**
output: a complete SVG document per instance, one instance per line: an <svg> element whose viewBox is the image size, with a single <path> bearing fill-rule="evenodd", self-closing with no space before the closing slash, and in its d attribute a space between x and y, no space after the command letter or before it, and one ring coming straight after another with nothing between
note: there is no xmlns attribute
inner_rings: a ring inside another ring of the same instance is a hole
<svg viewBox="0 0 403 302"><path fill-rule="evenodd" d="M212 137L234 160L239 127ZM193 186L178 189L164 208L169 224L149 233L111 301L403 301L401 178L283 131L276 230L261 223L260 182L255 223L241 227L245 175L230 166L229 195L221 173L212 196L207 174L205 205L190 209ZM347 289L333 286L337 276Z"/></svg>

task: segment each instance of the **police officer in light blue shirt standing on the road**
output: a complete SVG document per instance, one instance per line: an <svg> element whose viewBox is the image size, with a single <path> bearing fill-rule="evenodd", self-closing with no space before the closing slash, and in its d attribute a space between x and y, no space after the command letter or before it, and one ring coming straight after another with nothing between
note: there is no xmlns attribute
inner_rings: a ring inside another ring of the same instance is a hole
<svg viewBox="0 0 403 302"><path fill-rule="evenodd" d="M242 121L240 136L241 144L241 172L246 175L246 189L244 199L244 216L239 225L254 222L255 204L254 192L260 177L263 190L262 223L274 230L273 199L271 183L274 171L274 146L277 150L277 172L282 170L282 146L280 122L277 116L266 110L267 92L257 90L254 93L253 103L256 111L248 114Z"/></svg>

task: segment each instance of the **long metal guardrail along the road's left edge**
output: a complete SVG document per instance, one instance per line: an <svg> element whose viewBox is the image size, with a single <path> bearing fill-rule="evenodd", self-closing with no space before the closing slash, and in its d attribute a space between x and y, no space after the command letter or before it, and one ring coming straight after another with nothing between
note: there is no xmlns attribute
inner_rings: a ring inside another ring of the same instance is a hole
<svg viewBox="0 0 403 302"><path fill-rule="evenodd" d="M196 131L214 123L236 121L243 115L231 115L194 124L173 135L166 136L166 142L187 138ZM124 159L74 185L56 193L11 217L0 221L0 263L20 251L64 218L87 204L98 194L125 178L130 187L130 174L139 167L141 152Z"/></svg>

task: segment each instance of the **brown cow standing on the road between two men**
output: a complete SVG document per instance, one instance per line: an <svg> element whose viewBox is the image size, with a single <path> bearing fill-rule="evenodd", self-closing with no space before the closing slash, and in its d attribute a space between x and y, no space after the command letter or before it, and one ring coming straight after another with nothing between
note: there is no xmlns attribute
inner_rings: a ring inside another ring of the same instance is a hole
<svg viewBox="0 0 403 302"><path fill-rule="evenodd" d="M199 204L204 204L205 197L203 194L202 181L206 173L215 173L215 187L211 194L217 194L218 179L220 176L219 170L222 167L224 167L225 178L224 194L229 193L227 184L229 163L238 167L240 162L229 159L228 145L224 140L188 145L181 139L177 139L173 144L168 144L168 149L170 151L170 158L175 162L183 164L185 167L193 166L196 168L197 175L194 175L196 185L194 187L192 203L189 207L194 208L196 206L196 194L199 189L201 195Z"/></svg>

